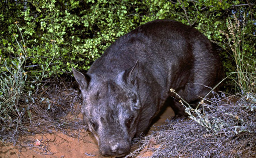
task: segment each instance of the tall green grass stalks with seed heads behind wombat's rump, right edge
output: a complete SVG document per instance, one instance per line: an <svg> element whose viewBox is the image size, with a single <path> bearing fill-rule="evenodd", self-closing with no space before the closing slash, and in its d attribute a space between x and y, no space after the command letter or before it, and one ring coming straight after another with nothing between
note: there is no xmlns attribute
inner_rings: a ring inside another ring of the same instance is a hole
<svg viewBox="0 0 256 158"><path fill-rule="evenodd" d="M231 48L236 63L235 82L241 93L256 93L256 61L246 56L244 45L245 14L242 20L233 15L234 20L227 19L228 33L220 31L227 38L226 44Z"/></svg>

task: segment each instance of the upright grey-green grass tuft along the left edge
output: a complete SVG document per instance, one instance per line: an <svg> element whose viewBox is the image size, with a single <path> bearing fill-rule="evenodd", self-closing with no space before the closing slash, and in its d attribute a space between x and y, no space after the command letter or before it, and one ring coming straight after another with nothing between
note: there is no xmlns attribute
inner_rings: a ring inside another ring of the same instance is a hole
<svg viewBox="0 0 256 158"><path fill-rule="evenodd" d="M20 35L23 39L22 34ZM24 70L26 46L23 40L23 44L17 41L16 34L13 36L17 42L18 55L11 62L8 62L9 64L6 59L0 57L0 125L2 127L0 133L12 130L15 135L22 124L21 118L25 113L29 116L29 106L20 104L20 102L27 101L26 95L24 95L27 79L27 72Z"/></svg>

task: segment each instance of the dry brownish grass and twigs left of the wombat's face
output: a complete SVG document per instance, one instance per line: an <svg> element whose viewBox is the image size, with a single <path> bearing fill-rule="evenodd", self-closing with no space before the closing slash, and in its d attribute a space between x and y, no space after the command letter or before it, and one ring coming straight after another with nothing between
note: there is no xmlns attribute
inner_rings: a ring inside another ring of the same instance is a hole
<svg viewBox="0 0 256 158"><path fill-rule="evenodd" d="M31 99L29 103L20 102L20 106L29 107L29 113L24 113L26 117L20 118L22 124L19 124L17 129L14 126L2 130L0 132L1 141L16 144L19 135L61 131L72 136L73 131L86 129L81 117L78 117L81 96L78 90L71 86L64 85L64 82L58 80L51 81L37 93L29 96Z"/></svg>

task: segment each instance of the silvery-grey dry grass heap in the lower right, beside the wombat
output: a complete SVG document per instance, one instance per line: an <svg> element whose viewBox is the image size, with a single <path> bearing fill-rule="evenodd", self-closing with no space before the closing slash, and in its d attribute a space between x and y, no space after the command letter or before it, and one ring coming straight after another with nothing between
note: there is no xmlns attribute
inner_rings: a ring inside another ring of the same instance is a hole
<svg viewBox="0 0 256 158"><path fill-rule="evenodd" d="M168 120L160 130L136 139L134 144L140 148L126 158L145 150L153 152L150 158L255 158L256 96L247 94L237 102L215 94L211 104L203 104L202 113L192 119ZM148 148L152 140L156 144Z"/></svg>

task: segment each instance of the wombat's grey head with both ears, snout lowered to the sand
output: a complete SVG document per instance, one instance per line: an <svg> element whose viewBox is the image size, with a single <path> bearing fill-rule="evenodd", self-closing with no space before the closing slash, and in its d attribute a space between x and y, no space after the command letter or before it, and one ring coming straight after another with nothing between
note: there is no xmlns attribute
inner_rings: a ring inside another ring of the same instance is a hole
<svg viewBox="0 0 256 158"><path fill-rule="evenodd" d="M73 68L83 97L84 121L103 156L122 157L130 152L140 111L137 73L137 63L112 80L84 75Z"/></svg>

